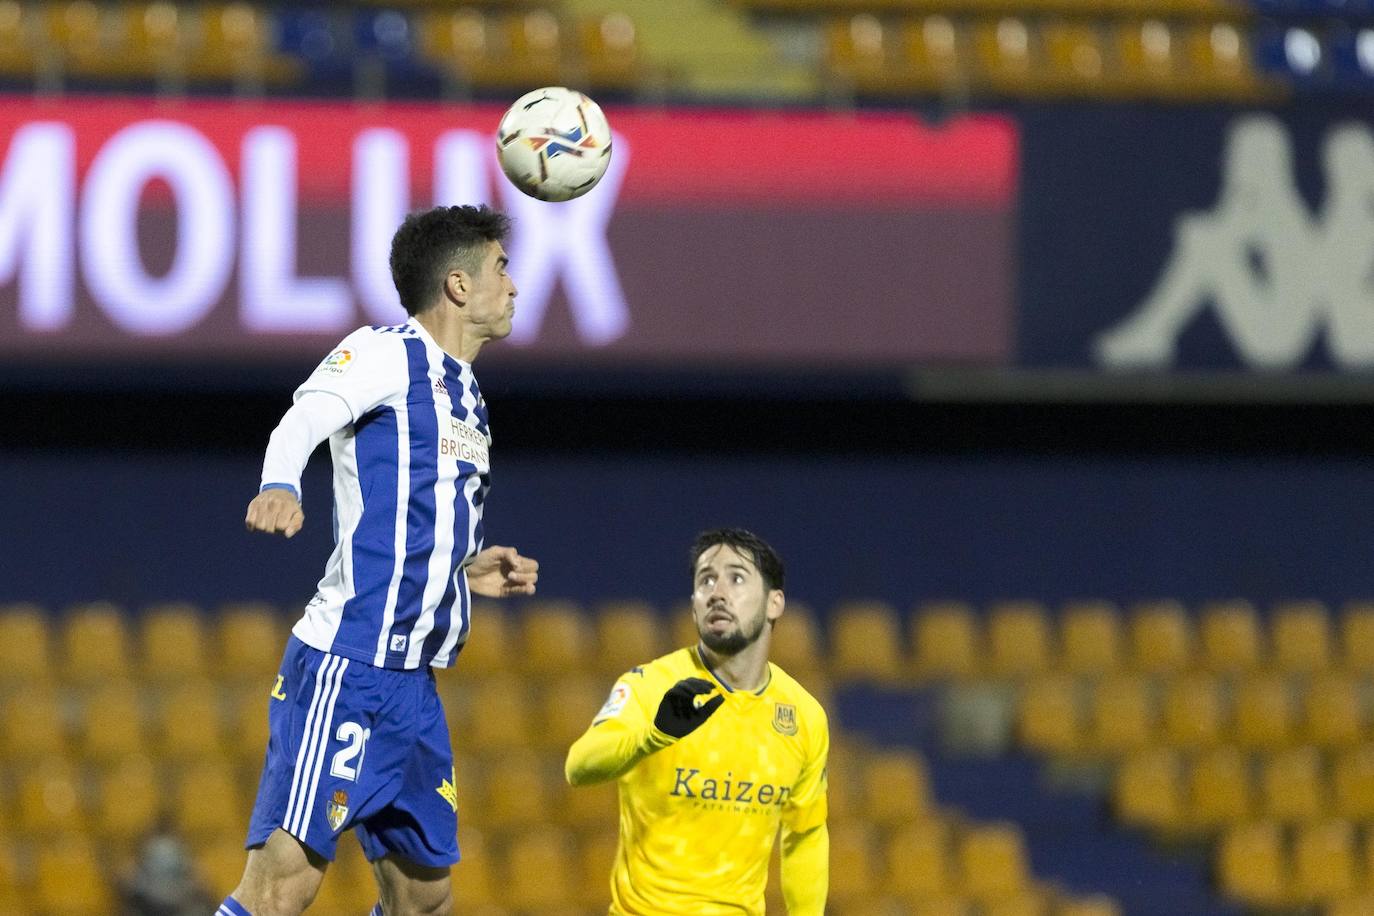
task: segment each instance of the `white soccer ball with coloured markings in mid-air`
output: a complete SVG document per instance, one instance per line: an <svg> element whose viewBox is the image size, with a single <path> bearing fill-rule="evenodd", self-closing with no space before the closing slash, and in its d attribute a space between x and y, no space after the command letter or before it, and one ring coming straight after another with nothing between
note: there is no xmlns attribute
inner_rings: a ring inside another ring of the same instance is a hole
<svg viewBox="0 0 1374 916"><path fill-rule="evenodd" d="M496 155L506 177L529 196L572 201L606 174L610 124L600 106L581 92L534 89L502 115Z"/></svg>

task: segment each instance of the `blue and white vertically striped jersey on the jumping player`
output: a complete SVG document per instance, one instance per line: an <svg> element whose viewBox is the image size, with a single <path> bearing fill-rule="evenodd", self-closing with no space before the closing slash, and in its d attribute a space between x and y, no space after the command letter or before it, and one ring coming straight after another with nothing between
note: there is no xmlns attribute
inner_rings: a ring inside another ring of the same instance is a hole
<svg viewBox="0 0 1374 916"><path fill-rule="evenodd" d="M334 552L293 632L378 667L447 667L467 640L463 563L482 548L491 430L473 367L414 319L359 328L297 389L352 424L330 437Z"/></svg>

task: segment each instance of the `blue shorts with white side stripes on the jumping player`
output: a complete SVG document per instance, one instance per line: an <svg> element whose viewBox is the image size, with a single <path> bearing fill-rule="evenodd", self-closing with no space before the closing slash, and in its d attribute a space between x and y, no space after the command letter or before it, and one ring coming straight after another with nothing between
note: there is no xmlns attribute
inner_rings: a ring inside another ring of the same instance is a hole
<svg viewBox="0 0 1374 916"><path fill-rule="evenodd" d="M247 846L282 828L334 860L353 828L368 861L458 861L453 748L434 674L286 644Z"/></svg>

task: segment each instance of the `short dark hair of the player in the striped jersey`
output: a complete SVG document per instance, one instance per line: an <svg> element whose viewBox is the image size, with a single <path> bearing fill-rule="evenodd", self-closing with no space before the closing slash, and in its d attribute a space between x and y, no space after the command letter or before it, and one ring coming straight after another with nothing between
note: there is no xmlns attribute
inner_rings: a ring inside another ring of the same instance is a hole
<svg viewBox="0 0 1374 916"><path fill-rule="evenodd" d="M407 314L418 314L438 298L453 268L475 275L488 242L503 242L511 220L481 206L420 210L405 217L392 236L392 282Z"/></svg>

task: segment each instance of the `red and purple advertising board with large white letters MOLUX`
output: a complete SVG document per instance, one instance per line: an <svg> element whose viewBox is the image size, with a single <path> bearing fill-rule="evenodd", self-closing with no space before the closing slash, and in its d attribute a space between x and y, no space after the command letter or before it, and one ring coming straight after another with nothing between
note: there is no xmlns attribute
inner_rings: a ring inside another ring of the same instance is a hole
<svg viewBox="0 0 1374 916"><path fill-rule="evenodd" d="M515 218L493 360L1009 358L1007 118L607 115L606 177L541 203L496 165L495 107L4 99L0 358L311 358L404 319L405 213L475 202Z"/></svg>

